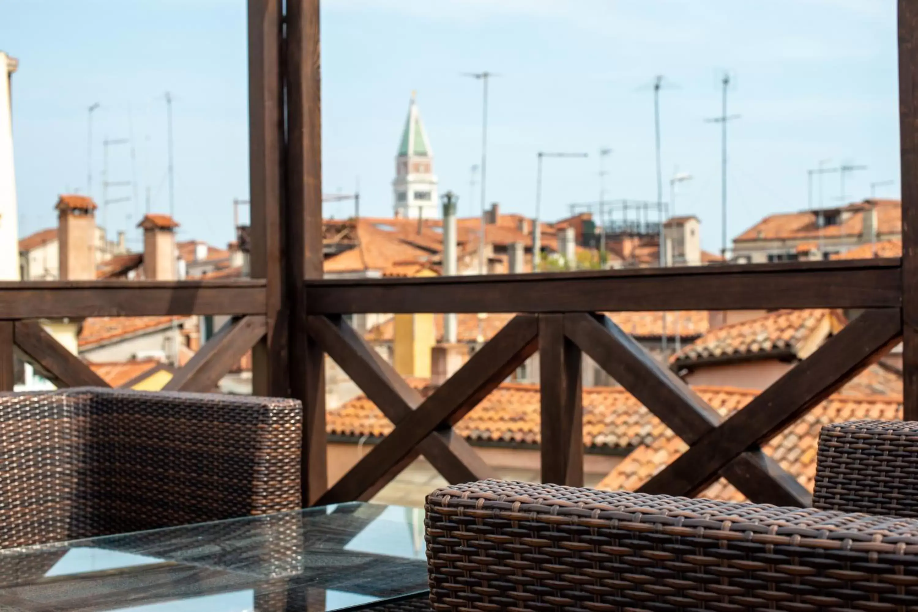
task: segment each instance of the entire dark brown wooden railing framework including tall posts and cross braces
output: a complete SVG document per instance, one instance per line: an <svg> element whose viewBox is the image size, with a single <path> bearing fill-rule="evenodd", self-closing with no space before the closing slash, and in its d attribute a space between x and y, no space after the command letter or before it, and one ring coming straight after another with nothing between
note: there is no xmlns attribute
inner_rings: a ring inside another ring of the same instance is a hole
<svg viewBox="0 0 918 612"><path fill-rule="evenodd" d="M754 501L808 505L809 492L762 446L900 340L904 414L918 420L918 0L899 0L901 260L348 281L321 279L319 0L284 6L286 15L281 0L249 0L255 280L0 284L0 390L12 385L14 345L59 384L100 384L35 322L41 317L236 315L170 388L211 388L253 348L255 393L303 402L309 504L369 498L420 455L453 483L490 475L453 424L534 351L541 353L543 480L554 483L582 484L583 353L689 444L644 485L648 492L695 495L723 476ZM728 420L596 314L806 307L864 312ZM376 312L517 317L422 398L342 317ZM331 487L324 353L395 424Z"/></svg>

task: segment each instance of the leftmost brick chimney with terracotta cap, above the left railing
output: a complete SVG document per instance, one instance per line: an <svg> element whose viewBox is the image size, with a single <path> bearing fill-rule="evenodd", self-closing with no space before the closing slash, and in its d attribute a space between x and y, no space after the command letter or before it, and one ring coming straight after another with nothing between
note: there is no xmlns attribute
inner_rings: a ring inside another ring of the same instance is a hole
<svg viewBox="0 0 918 612"><path fill-rule="evenodd" d="M58 265L63 281L95 280L95 202L85 195L58 197Z"/></svg>

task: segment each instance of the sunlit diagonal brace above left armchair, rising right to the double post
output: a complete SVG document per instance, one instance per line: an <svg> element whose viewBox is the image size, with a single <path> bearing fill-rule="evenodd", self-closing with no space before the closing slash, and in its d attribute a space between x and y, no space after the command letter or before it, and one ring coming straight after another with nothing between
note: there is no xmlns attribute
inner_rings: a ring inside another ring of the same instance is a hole
<svg viewBox="0 0 918 612"><path fill-rule="evenodd" d="M263 315L230 319L185 366L174 373L162 390L212 392L219 380L252 349L252 345L264 337L265 328Z"/></svg>

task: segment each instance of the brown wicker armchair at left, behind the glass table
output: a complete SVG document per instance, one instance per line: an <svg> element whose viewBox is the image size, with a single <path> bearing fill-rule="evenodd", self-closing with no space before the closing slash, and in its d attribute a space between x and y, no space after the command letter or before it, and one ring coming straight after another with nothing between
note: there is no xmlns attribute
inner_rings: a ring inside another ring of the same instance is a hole
<svg viewBox="0 0 918 612"><path fill-rule="evenodd" d="M0 394L0 548L300 507L299 402Z"/></svg>

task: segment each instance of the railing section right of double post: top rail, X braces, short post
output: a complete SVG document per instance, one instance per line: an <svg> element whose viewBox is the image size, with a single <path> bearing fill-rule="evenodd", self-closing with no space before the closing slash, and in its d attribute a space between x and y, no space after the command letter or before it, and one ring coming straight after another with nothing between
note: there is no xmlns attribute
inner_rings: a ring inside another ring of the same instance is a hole
<svg viewBox="0 0 918 612"><path fill-rule="evenodd" d="M311 281L306 287L310 336L396 426L321 503L375 495L419 453L451 482L487 476L487 466L452 426L539 351L544 482L583 484L580 363L586 353L689 444L643 491L697 495L723 476L754 501L806 506L809 492L761 447L901 340L899 260ZM754 307L864 312L728 420L610 318L595 314ZM379 311L525 314L421 401L341 317Z"/></svg>

